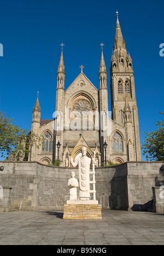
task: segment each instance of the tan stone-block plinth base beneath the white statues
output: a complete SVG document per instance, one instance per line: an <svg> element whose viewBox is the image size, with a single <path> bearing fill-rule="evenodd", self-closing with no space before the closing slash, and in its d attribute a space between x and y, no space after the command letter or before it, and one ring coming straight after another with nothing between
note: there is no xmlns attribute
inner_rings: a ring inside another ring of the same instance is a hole
<svg viewBox="0 0 164 256"><path fill-rule="evenodd" d="M63 219L102 219L101 205L65 205Z"/></svg>

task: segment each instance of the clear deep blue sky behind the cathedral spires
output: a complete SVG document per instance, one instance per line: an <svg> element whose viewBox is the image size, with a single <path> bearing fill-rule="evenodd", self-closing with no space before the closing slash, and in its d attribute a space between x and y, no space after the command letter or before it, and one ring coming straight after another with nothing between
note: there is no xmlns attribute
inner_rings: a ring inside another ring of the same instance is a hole
<svg viewBox="0 0 164 256"><path fill-rule="evenodd" d="M164 57L159 55L159 46L164 43L163 8L163 1L1 0L4 56L0 57L0 109L13 117L16 125L30 130L39 90L42 119L52 119L62 42L66 89L79 75L81 64L85 75L99 88L101 42L105 45L110 89L118 9L126 48L133 60L142 144L143 132L156 130L155 124L162 119L159 111L164 112Z"/></svg>

